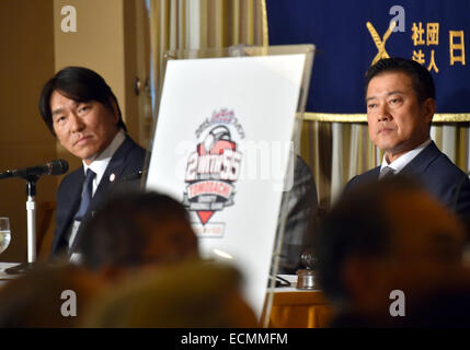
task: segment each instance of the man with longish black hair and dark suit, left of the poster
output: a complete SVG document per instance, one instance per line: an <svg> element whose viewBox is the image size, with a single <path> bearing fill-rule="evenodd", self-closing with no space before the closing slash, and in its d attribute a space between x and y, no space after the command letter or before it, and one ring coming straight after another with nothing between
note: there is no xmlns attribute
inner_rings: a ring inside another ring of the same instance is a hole
<svg viewBox="0 0 470 350"><path fill-rule="evenodd" d="M50 256L72 253L81 222L98 210L117 184L141 174L146 151L127 136L116 96L104 79L67 67L43 88L41 115L60 144L82 160L57 192Z"/></svg>

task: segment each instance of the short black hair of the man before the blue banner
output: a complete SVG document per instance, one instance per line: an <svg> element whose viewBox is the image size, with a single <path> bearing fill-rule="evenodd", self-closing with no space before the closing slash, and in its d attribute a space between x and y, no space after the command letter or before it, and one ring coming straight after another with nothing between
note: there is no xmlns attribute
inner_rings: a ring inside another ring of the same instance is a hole
<svg viewBox="0 0 470 350"><path fill-rule="evenodd" d="M383 58L371 66L366 73L365 95L370 80L385 72L403 72L411 78L417 100L423 103L427 98L436 100L436 88L433 75L419 62L400 57Z"/></svg>

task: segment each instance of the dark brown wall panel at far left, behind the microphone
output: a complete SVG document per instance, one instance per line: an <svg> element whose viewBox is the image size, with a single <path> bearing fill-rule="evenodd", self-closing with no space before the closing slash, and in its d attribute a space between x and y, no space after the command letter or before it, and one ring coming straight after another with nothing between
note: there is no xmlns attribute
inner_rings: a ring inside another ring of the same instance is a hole
<svg viewBox="0 0 470 350"><path fill-rule="evenodd" d="M0 1L0 171L38 165L57 156L54 137L37 107L43 84L54 74L53 2ZM57 178L37 184L36 202L55 200ZM0 182L0 215L10 217L12 241L2 261L26 259L26 185Z"/></svg>

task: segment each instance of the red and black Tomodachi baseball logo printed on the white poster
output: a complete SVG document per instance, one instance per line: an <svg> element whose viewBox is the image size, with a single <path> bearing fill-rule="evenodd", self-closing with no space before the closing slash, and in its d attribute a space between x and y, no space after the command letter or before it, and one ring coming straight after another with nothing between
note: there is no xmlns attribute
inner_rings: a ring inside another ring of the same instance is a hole
<svg viewBox="0 0 470 350"><path fill-rule="evenodd" d="M217 211L233 206L242 153L236 137L244 131L233 110L215 110L196 130L198 143L186 165L183 205L199 220L198 234L220 236L225 223L209 224Z"/></svg>

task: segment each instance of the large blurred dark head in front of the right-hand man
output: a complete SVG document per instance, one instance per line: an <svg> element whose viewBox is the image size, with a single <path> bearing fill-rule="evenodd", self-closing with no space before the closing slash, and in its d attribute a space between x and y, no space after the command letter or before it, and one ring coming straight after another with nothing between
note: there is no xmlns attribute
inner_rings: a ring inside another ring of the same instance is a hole
<svg viewBox="0 0 470 350"><path fill-rule="evenodd" d="M397 320L391 291L409 306L462 271L463 237L458 219L414 180L367 184L340 198L322 223L320 283L340 314L383 326Z"/></svg>

